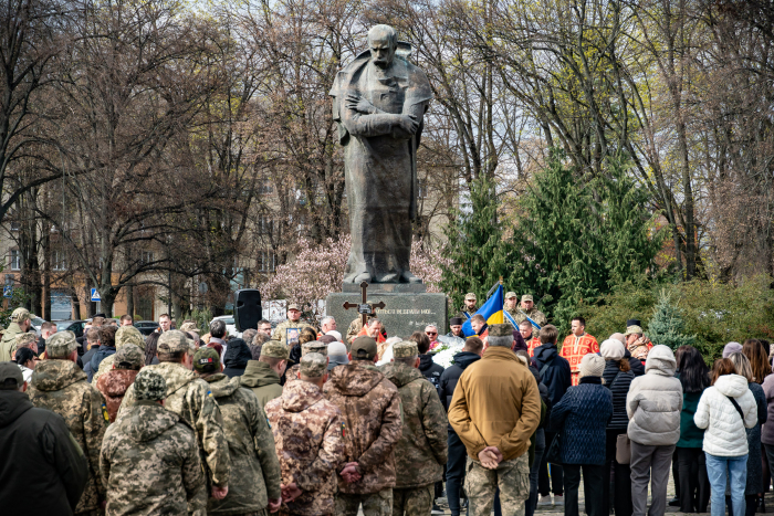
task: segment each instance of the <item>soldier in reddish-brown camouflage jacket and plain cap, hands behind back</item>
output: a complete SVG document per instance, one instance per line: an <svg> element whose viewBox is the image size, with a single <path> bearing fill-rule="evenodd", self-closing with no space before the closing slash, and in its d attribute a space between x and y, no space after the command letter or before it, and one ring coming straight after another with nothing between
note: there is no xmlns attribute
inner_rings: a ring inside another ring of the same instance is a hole
<svg viewBox="0 0 774 516"><path fill-rule="evenodd" d="M376 369L376 341L357 337L352 362L335 367L325 382L325 398L342 411L346 463L338 472L336 515L393 513L394 450L400 440L400 394Z"/></svg>

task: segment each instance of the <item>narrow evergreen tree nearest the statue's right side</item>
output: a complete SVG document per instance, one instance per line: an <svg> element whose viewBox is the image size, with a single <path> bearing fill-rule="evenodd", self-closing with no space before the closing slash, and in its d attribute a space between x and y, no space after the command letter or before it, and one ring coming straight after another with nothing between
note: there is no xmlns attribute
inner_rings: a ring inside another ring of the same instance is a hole
<svg viewBox="0 0 774 516"><path fill-rule="evenodd" d="M489 288L509 273L509 243L503 240L498 221L500 201L494 182L483 176L474 179L469 201L453 210L453 222L444 229L447 245L446 260L440 263L440 286L454 307L462 306L468 292L474 292L482 304Z"/></svg>

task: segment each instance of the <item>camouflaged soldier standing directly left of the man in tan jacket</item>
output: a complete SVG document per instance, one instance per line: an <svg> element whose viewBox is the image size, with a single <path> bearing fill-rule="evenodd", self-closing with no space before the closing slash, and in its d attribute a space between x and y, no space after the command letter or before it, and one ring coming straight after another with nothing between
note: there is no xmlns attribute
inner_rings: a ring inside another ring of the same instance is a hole
<svg viewBox="0 0 774 516"><path fill-rule="evenodd" d="M443 476L449 436L446 411L436 388L419 371L417 343L393 346L394 361L384 366L400 393L402 435L395 447L400 472L393 488L394 516L425 516L435 501L435 483Z"/></svg>

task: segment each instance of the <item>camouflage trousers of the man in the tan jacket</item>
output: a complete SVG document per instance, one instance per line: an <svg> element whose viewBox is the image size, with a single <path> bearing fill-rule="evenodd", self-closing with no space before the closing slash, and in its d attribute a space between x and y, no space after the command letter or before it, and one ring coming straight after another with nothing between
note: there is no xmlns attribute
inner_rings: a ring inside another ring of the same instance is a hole
<svg viewBox="0 0 774 516"><path fill-rule="evenodd" d="M496 470L488 470L479 461L468 457L464 491L471 516L490 516L494 493L500 487L500 507L503 516L523 516L524 501L530 497L530 457L503 461Z"/></svg>

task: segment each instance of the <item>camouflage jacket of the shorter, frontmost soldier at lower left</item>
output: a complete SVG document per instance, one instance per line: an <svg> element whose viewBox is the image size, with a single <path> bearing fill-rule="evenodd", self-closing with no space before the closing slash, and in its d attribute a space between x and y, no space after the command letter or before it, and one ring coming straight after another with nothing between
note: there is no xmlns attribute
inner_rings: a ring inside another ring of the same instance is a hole
<svg viewBox="0 0 774 516"><path fill-rule="evenodd" d="M100 473L111 516L186 514L205 483L194 430L147 400L105 432Z"/></svg>

